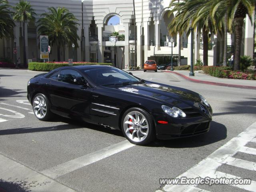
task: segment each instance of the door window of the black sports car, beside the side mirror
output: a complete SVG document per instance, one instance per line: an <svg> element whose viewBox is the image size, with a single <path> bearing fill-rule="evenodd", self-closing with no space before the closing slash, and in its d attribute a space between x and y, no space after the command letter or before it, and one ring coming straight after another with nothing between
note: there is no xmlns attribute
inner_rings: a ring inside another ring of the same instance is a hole
<svg viewBox="0 0 256 192"><path fill-rule="evenodd" d="M60 71L58 81L75 84L74 79L77 77L84 79L84 77L76 70L64 69Z"/></svg>

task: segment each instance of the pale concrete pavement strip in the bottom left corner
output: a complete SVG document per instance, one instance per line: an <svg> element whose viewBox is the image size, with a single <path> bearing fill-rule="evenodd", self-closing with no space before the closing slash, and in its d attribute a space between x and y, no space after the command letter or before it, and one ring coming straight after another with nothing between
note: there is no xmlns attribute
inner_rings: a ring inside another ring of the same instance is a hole
<svg viewBox="0 0 256 192"><path fill-rule="evenodd" d="M0 154L1 179L9 183L22 183L30 192L75 192L74 190Z"/></svg>

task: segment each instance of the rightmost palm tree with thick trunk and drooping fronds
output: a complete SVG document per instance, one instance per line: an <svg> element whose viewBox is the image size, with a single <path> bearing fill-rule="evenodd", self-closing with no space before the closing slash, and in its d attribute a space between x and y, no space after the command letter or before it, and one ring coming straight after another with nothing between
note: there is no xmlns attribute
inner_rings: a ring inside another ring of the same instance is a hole
<svg viewBox="0 0 256 192"><path fill-rule="evenodd" d="M219 14L218 17L223 18L227 14L228 30L235 35L234 70L239 70L244 18L248 15L252 22L255 0L211 0L211 2L212 17Z"/></svg>

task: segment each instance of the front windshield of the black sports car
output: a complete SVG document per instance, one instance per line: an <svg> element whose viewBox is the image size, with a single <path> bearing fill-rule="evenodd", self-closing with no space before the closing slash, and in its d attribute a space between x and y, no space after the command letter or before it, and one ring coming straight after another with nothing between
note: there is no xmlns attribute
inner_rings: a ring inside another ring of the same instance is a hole
<svg viewBox="0 0 256 192"><path fill-rule="evenodd" d="M118 85L118 84L134 84L141 82L140 79L114 67L94 68L84 70L84 73L97 86Z"/></svg>

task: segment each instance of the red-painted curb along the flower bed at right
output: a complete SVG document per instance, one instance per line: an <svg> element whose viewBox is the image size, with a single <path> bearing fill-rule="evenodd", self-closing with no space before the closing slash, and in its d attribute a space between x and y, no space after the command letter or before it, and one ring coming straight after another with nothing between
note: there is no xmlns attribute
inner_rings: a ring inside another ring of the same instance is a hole
<svg viewBox="0 0 256 192"><path fill-rule="evenodd" d="M182 74L180 74L178 72L174 72L174 71L164 71L164 72L174 73L176 75L182 76L186 80L190 80L190 81L195 82L195 83L202 83L202 84L209 84L209 85L218 85L218 86L225 86L225 87L234 87L234 88L241 88L241 89L253 89L253 90L256 90L256 86L236 85L236 84L227 84L227 83L217 83L217 82L211 82L211 81L203 81L203 80L197 80L197 79L190 78L188 76L182 75Z"/></svg>

